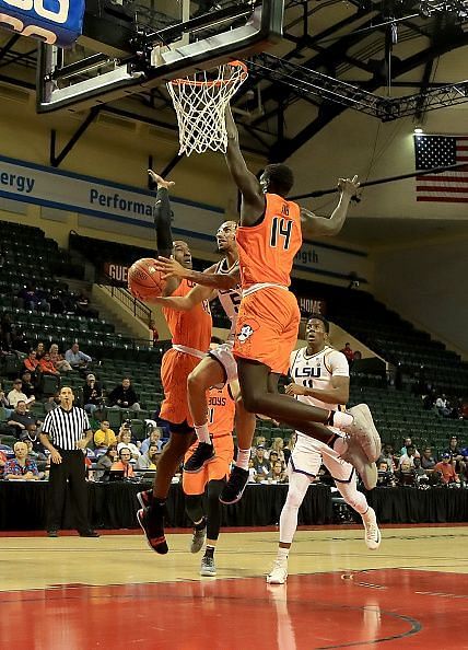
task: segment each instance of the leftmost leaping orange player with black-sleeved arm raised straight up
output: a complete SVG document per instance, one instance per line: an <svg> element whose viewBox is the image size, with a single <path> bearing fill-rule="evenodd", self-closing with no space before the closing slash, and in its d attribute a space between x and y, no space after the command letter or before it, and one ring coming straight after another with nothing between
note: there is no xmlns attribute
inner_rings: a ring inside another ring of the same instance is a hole
<svg viewBox="0 0 468 650"><path fill-rule="evenodd" d="M149 172L157 184L155 223L157 249L164 256L171 254L180 264L191 266L191 255L185 242L172 241L171 205L168 188L174 185ZM171 248L168 247L171 243ZM169 278L165 295L186 295L194 283L179 278ZM151 302L151 301L150 301ZM147 535L150 547L160 554L168 550L164 535L165 500L171 480L194 440L194 421L187 403L187 378L204 357L211 340L211 314L208 302L201 302L187 312L163 310L171 330L173 346L163 357L161 379L164 401L161 417L168 420L171 437L157 463L157 473L152 492L140 492L142 506L138 521Z"/></svg>

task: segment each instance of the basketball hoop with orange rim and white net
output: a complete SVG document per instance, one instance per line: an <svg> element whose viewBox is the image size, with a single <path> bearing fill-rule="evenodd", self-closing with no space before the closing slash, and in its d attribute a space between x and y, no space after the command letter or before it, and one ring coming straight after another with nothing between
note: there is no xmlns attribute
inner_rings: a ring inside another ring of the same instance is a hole
<svg viewBox="0 0 468 650"><path fill-rule="evenodd" d="M213 78L212 73L199 71L166 84L177 114L179 155L204 153L208 149L226 152L224 111L248 72L242 61L231 61L220 66L214 74Z"/></svg>

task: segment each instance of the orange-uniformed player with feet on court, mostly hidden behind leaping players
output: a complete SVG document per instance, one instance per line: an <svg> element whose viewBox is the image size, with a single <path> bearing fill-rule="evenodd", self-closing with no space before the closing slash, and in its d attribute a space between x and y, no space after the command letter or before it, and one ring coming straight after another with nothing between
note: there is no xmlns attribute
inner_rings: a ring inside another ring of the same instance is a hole
<svg viewBox="0 0 468 650"><path fill-rule="evenodd" d="M211 388L208 397L208 427L212 436L215 457L197 474L184 472L183 489L186 495L185 508L194 522L194 536L190 552L198 553L207 539L201 558L200 576L215 576L214 549L220 534L221 490L231 471L234 455L233 427L235 397L238 383L225 383L222 388ZM195 451L194 444L186 454L186 461ZM207 489L207 512L203 512L203 494Z"/></svg>

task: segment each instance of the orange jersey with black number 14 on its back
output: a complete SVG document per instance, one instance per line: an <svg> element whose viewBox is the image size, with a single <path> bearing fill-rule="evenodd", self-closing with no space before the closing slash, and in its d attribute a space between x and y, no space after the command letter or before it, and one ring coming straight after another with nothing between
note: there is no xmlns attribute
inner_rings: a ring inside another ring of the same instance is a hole
<svg viewBox="0 0 468 650"><path fill-rule="evenodd" d="M243 289L262 282L289 287L294 256L302 246L299 205L277 194L266 194L265 199L262 221L237 228Z"/></svg>

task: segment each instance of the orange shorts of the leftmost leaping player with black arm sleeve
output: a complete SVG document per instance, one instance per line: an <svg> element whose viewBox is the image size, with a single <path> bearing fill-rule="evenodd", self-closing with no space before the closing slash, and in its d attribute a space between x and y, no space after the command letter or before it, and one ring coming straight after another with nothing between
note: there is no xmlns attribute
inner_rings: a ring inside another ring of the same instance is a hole
<svg viewBox="0 0 468 650"><path fill-rule="evenodd" d="M187 401L187 378L200 361L198 357L179 352L174 348L164 355L161 364L164 399L160 413L160 417L164 420L174 425L187 420L189 427L194 426Z"/></svg>

